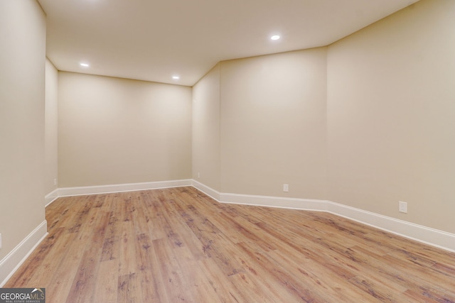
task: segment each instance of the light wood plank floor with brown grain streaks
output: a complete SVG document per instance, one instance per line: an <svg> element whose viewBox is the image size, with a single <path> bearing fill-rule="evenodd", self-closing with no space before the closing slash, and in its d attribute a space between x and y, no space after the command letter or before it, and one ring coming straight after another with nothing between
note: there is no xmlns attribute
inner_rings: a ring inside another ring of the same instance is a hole
<svg viewBox="0 0 455 303"><path fill-rule="evenodd" d="M5 287L50 302L455 302L455 254L192 187L57 199Z"/></svg>

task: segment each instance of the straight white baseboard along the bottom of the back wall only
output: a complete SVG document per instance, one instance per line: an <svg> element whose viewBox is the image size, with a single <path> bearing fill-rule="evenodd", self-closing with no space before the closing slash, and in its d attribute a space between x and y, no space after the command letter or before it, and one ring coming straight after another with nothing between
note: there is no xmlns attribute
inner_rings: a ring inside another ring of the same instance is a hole
<svg viewBox="0 0 455 303"><path fill-rule="evenodd" d="M182 186L191 186L191 179L85 187L66 187L58 189L58 197L80 196L85 194L108 194L111 192L133 192L135 190L159 189Z"/></svg>

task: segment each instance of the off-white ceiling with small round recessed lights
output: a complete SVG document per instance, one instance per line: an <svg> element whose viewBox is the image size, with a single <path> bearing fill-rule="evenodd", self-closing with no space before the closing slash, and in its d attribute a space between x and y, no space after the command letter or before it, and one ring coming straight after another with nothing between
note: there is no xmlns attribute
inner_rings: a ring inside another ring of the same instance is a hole
<svg viewBox="0 0 455 303"><path fill-rule="evenodd" d="M329 45L418 0L38 1L58 70L192 86L221 60Z"/></svg>

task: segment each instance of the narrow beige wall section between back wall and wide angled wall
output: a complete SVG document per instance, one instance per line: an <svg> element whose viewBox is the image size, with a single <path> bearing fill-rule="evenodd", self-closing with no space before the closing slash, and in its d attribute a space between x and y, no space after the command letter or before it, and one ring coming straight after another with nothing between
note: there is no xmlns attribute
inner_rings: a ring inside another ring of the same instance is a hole
<svg viewBox="0 0 455 303"><path fill-rule="evenodd" d="M220 65L193 87L193 179L220 190Z"/></svg>

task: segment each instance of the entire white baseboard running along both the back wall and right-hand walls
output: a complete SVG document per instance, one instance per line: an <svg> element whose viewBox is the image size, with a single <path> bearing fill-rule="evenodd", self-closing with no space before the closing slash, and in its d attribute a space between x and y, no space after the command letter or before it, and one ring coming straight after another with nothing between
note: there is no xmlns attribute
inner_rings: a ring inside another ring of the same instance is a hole
<svg viewBox="0 0 455 303"><path fill-rule="evenodd" d="M82 194L103 194L109 192L129 192L144 189L159 189L166 187L193 186L218 202L233 204L248 204L256 206L302 209L311 211L326 211L337 216L343 216L362 224L380 228L383 231L395 233L415 241L429 244L437 248L455 252L455 234L439 231L434 228L412 224L389 216L382 216L370 211L338 204L327 200L299 199L287 197L256 196L251 194L230 194L218 192L196 180L171 180L163 182L145 182L133 184L114 184L92 187L70 187L57 189L57 197L77 196ZM55 199L55 191L46 197ZM46 198L46 202L48 199ZM50 203L50 202L49 202Z"/></svg>

